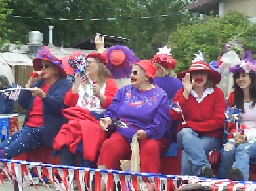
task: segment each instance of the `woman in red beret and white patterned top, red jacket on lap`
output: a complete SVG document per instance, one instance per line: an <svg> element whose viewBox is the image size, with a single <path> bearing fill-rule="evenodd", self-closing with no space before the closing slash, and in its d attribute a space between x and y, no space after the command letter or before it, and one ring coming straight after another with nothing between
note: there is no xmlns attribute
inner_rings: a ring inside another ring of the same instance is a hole
<svg viewBox="0 0 256 191"><path fill-rule="evenodd" d="M96 160L102 142L106 139L106 133L100 129L98 120L104 116L106 108L117 92L116 82L108 78L110 71L105 67L104 55L91 52L84 59L85 68L81 69L84 70L81 72L86 74L87 80L81 81L80 72L75 73L74 85L64 99L64 104L70 108L62 111L69 123L62 126L54 139L53 147L60 150L62 165L76 165L75 158L78 158L80 166L88 167ZM74 116L77 116L77 123L73 136ZM79 130L77 127L80 127Z"/></svg>

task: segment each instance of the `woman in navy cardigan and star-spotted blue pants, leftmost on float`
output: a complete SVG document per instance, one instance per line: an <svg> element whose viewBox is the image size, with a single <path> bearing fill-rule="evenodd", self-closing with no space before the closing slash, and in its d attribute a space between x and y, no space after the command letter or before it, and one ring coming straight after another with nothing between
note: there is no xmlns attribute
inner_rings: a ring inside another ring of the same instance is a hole
<svg viewBox="0 0 256 191"><path fill-rule="evenodd" d="M27 110L22 130L0 144L0 158L12 158L42 145L52 147L53 139L64 124L60 113L63 98L70 82L62 69L62 62L42 46L33 60L36 72L26 88L21 90L18 103Z"/></svg>

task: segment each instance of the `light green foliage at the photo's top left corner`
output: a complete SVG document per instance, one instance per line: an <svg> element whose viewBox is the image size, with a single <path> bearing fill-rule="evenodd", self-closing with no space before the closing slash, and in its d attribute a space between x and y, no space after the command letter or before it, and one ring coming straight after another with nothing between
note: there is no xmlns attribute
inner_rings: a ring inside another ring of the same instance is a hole
<svg viewBox="0 0 256 191"><path fill-rule="evenodd" d="M8 34L11 33L7 22L8 14L11 14L12 9L8 9L9 0L0 1L0 47L3 43L8 43ZM2 50L2 48L0 48Z"/></svg>

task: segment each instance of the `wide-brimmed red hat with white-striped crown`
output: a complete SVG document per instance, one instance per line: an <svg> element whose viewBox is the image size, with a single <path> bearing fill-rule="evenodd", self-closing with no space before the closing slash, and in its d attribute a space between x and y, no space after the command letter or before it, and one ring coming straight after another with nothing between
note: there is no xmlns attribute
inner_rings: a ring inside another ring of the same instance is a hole
<svg viewBox="0 0 256 191"><path fill-rule="evenodd" d="M184 78L186 73L192 73L192 71L206 71L215 85L219 84L221 81L221 74L211 69L209 65L203 61L196 61L192 63L189 70L177 73L177 77L182 81L182 78Z"/></svg>

